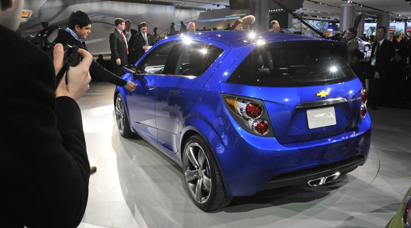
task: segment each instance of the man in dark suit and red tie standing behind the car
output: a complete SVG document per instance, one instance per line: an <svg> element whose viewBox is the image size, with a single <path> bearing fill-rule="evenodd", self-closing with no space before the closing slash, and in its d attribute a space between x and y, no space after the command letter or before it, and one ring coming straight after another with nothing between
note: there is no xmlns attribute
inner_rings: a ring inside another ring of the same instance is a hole
<svg viewBox="0 0 411 228"><path fill-rule="evenodd" d="M114 74L123 75L123 66L128 64L127 54L128 42L123 30L126 28L125 20L116 18L114 20L114 31L110 33L111 62L114 67Z"/></svg>

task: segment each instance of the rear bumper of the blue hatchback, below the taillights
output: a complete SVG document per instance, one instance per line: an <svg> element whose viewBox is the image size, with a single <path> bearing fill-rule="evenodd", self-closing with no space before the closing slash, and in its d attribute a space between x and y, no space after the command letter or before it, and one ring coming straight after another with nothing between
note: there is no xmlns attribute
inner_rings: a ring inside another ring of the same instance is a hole
<svg viewBox="0 0 411 228"><path fill-rule="evenodd" d="M355 131L292 145L238 128L226 136L224 149L215 154L225 188L230 196L249 196L267 188L307 186L308 180L363 165L370 150L371 120L367 116Z"/></svg>

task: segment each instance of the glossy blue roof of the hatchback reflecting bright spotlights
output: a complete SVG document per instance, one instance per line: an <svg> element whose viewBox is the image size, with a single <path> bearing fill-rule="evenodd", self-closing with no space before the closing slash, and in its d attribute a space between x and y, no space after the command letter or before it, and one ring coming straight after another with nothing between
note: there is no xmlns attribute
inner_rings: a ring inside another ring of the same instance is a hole
<svg viewBox="0 0 411 228"><path fill-rule="evenodd" d="M180 39L190 38L196 39L212 39L221 43L226 43L231 47L242 47L250 44L256 44L258 40L262 40L265 43L271 42L284 42L284 41L308 41L308 40L323 40L330 41L318 37L303 36L290 33L280 33L265 31L254 33L248 30L234 31L234 30L216 30L216 31L200 31L192 33L180 34ZM252 38L254 36L254 38Z"/></svg>

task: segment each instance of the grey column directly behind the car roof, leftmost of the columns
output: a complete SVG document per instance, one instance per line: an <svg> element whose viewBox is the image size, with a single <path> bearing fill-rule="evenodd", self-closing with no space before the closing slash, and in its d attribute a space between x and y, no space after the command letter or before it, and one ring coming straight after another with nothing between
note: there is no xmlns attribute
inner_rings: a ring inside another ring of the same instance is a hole
<svg viewBox="0 0 411 228"><path fill-rule="evenodd" d="M255 16L254 30L268 30L270 25L268 8L268 0L250 0L250 13Z"/></svg>

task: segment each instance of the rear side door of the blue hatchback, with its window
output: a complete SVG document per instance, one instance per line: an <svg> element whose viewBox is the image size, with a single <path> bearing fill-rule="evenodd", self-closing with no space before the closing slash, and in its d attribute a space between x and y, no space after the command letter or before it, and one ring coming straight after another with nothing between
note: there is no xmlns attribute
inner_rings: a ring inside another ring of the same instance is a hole
<svg viewBox="0 0 411 228"><path fill-rule="evenodd" d="M172 52L170 65L175 67L158 78L156 83L158 99L155 113L157 143L171 153L177 153L184 121L219 64L216 59L221 60L226 53L223 54L223 48L202 41L178 43Z"/></svg>

